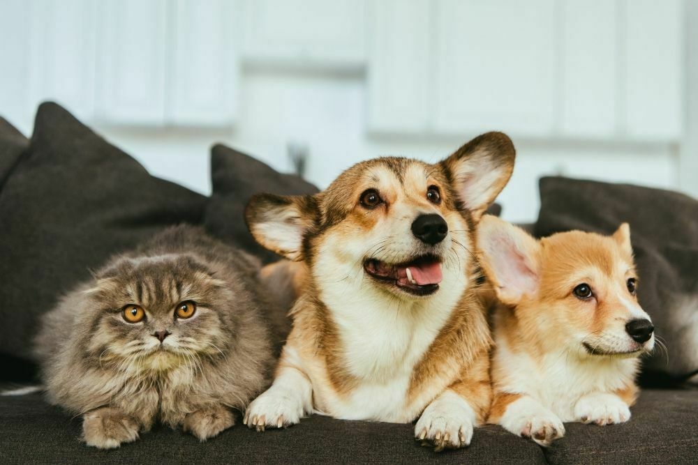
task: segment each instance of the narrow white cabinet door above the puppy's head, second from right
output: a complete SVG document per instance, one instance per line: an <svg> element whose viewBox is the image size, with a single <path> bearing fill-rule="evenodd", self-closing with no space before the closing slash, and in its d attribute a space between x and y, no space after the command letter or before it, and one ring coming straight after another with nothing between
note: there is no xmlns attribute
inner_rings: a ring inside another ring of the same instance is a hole
<svg viewBox="0 0 698 465"><path fill-rule="evenodd" d="M560 133L612 137L618 130L619 70L614 0L564 0L560 5Z"/></svg>

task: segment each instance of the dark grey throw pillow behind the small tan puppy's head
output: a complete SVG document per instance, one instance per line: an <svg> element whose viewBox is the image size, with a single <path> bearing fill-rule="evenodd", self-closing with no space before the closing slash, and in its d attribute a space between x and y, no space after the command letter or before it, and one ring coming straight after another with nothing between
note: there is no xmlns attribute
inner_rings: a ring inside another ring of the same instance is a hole
<svg viewBox="0 0 698 465"><path fill-rule="evenodd" d="M611 234L622 222L639 274L639 303L653 319L657 346L645 383L683 381L698 370L698 201L636 185L540 180L537 236L581 229Z"/></svg>

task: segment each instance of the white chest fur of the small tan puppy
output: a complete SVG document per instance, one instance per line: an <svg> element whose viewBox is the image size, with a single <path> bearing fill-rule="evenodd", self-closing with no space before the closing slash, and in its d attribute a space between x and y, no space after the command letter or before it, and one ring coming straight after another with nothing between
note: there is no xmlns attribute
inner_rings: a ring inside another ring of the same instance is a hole
<svg viewBox="0 0 698 465"><path fill-rule="evenodd" d="M632 381L637 369L635 358L580 360L565 351L536 358L512 353L501 340L496 344L496 363L507 367L500 380L503 390L531 395L563 422L579 420L574 406L582 396L620 390Z"/></svg>

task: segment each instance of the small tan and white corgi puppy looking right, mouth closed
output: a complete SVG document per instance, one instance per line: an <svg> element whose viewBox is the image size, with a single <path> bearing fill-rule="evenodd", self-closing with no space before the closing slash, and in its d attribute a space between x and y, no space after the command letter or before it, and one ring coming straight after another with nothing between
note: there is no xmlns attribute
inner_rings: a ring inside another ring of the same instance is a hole
<svg viewBox="0 0 698 465"><path fill-rule="evenodd" d="M549 445L565 434L563 422L627 421L639 356L655 343L635 297L628 224L613 236L568 231L536 241L486 215L477 246L502 304L489 422Z"/></svg>

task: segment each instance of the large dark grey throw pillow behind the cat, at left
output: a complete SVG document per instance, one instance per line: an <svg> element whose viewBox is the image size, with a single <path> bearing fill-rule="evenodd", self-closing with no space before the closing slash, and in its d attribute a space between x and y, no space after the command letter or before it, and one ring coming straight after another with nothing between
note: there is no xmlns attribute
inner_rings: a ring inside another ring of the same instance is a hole
<svg viewBox="0 0 698 465"><path fill-rule="evenodd" d="M207 200L150 176L55 103L40 105L27 151L14 153L0 148L0 173L14 165L0 186L3 363L31 360L38 316L91 268L171 224L200 223Z"/></svg>

